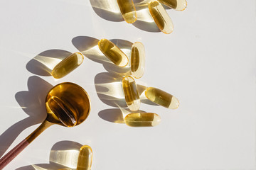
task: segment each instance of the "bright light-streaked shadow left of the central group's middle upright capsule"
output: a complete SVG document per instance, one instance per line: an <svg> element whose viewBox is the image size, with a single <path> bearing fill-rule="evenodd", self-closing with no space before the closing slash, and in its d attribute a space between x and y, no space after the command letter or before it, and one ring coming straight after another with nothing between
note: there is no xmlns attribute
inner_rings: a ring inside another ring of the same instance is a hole
<svg viewBox="0 0 256 170"><path fill-rule="evenodd" d="M116 108L126 108L122 90L122 77L119 74L102 72L95 76L95 89L100 100Z"/></svg>

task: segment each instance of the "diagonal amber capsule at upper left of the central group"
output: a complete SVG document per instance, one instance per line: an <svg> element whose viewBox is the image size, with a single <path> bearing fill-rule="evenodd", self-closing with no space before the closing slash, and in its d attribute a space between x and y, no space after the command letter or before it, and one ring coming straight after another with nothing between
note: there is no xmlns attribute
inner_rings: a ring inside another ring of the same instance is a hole
<svg viewBox="0 0 256 170"><path fill-rule="evenodd" d="M113 42L107 39L101 39L98 42L100 51L114 64L119 67L127 66L129 60L127 55L122 52Z"/></svg>

